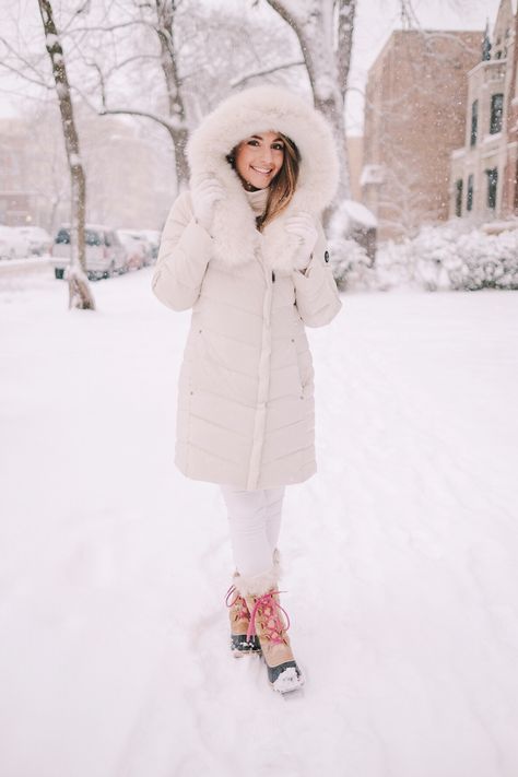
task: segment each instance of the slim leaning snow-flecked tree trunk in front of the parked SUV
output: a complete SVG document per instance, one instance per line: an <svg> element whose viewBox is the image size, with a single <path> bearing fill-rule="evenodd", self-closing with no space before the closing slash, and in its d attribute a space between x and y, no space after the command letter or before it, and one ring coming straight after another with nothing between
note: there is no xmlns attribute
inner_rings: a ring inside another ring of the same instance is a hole
<svg viewBox="0 0 518 777"><path fill-rule="evenodd" d="M52 75L58 95L64 148L70 169L71 181L71 225L70 225L70 268L69 308L95 309L94 299L86 278L86 257L84 244L84 215L86 204L86 185L81 163L79 137L75 129L70 84L64 64L63 49L54 21L50 0L38 0L39 12L45 31L45 45L52 66Z"/></svg>

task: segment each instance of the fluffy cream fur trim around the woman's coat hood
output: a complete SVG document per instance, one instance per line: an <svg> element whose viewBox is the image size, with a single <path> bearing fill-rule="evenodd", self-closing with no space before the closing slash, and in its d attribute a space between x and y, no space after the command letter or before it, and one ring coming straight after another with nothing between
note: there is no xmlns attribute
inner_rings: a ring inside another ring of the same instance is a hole
<svg viewBox="0 0 518 777"><path fill-rule="evenodd" d="M289 207L259 233L245 189L226 155L247 136L269 130L282 132L296 143L301 167ZM209 174L226 192L215 204L211 228L217 260L236 267L252 261L261 247L272 269L291 272L297 240L284 229L285 220L297 211L320 219L338 186L335 144L323 116L284 87L255 86L227 97L202 120L189 138L187 156L191 186Z"/></svg>

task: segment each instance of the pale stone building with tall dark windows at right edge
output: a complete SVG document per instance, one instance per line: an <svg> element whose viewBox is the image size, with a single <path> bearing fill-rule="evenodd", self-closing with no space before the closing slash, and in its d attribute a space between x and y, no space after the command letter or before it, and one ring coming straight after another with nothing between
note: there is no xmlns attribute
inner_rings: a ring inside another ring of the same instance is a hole
<svg viewBox="0 0 518 777"><path fill-rule="evenodd" d="M451 216L475 224L518 215L517 0L502 0L493 34L467 74L463 145L451 154Z"/></svg>

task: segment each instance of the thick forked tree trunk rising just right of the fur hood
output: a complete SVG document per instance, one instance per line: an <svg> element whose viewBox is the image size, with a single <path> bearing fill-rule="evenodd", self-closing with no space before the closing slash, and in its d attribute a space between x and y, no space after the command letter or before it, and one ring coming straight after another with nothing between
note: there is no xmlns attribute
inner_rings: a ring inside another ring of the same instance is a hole
<svg viewBox="0 0 518 777"><path fill-rule="evenodd" d="M356 0L267 0L295 32L315 107L330 121L340 156L337 201L350 197L344 102L351 67Z"/></svg>

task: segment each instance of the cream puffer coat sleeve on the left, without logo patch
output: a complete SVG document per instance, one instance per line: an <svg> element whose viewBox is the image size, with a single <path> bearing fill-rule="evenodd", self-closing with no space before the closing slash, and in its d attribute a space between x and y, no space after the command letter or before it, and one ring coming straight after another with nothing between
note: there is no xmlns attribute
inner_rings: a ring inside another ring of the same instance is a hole
<svg viewBox="0 0 518 777"><path fill-rule="evenodd" d="M189 192L173 203L162 233L152 279L155 296L173 310L187 310L200 295L212 237L196 221Z"/></svg>

